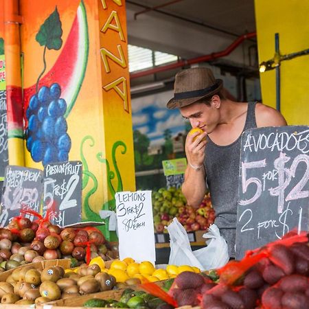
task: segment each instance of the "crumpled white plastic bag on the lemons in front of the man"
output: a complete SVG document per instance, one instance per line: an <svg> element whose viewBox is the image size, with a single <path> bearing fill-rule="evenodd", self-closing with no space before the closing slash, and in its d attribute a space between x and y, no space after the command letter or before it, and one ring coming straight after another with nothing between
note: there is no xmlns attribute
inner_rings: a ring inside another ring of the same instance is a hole
<svg viewBox="0 0 309 309"><path fill-rule="evenodd" d="M229 261L227 242L220 236L216 225L209 227L209 232L203 238L210 238L207 247L192 251L189 238L184 227L174 218L165 227L170 233L170 260L168 264L196 266L201 271L219 268Z"/></svg>

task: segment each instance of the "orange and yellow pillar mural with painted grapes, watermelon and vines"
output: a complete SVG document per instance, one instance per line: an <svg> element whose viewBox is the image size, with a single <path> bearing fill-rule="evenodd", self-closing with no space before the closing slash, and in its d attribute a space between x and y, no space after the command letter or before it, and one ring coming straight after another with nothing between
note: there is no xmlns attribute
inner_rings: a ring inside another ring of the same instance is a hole
<svg viewBox="0 0 309 309"><path fill-rule="evenodd" d="M24 126L9 139L23 140L29 167L82 161L83 220L102 220L115 192L135 190L125 3L19 5Z"/></svg>

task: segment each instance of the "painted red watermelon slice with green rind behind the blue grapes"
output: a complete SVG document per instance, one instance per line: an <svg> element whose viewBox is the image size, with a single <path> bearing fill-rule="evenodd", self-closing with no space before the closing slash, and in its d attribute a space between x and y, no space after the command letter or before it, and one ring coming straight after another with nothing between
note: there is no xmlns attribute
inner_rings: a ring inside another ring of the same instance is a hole
<svg viewBox="0 0 309 309"><path fill-rule="evenodd" d="M52 69L49 70L38 82L38 88L50 87L57 82L61 88L61 98L67 102L67 117L76 102L78 93L84 80L89 55L89 35L87 12L84 2L80 1L76 17L71 26L69 36L65 42L58 59ZM29 105L30 98L36 93L36 84L24 89L24 110Z"/></svg>

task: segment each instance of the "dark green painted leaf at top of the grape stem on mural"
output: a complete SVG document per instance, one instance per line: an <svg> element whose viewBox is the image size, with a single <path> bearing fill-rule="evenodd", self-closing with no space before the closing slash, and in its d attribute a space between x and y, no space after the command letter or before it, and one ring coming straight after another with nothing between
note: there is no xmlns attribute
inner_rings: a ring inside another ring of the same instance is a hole
<svg viewBox="0 0 309 309"><path fill-rule="evenodd" d="M40 30L36 34L36 41L48 49L60 49L62 46L62 28L57 7L54 12L45 19Z"/></svg>

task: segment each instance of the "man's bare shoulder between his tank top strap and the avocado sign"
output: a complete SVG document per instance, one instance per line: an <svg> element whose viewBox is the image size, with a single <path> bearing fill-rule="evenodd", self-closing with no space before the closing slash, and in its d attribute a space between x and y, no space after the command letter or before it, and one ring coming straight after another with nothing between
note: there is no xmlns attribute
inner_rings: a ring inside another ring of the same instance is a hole
<svg viewBox="0 0 309 309"><path fill-rule="evenodd" d="M279 111L262 103L256 104L255 120L258 128L262 126L286 126L286 119Z"/></svg>

